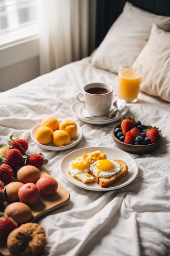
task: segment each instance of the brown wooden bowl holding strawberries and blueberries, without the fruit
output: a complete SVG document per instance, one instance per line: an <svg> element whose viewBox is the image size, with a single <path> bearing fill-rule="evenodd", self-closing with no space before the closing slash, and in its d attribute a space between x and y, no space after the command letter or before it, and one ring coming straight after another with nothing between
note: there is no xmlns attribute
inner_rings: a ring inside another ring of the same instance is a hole
<svg viewBox="0 0 170 256"><path fill-rule="evenodd" d="M147 129L149 128L149 126L145 125L145 124L142 124L143 128L144 129ZM161 135L161 132L159 132L159 138L158 140L155 142L155 143L152 143L152 144L148 144L148 145L131 145L131 144L126 144L122 141L120 141L119 139L117 139L117 137L115 136L114 134L114 130L115 128L117 127L120 127L120 124L115 126L112 130L112 137L113 137L113 140L115 141L116 145L124 150L124 151L127 151L129 153L134 153L134 154L138 154L138 155L141 155L141 154L146 154L150 151L153 151L155 150L157 147L159 147L159 145L161 144L161 141L162 141L162 135Z"/></svg>

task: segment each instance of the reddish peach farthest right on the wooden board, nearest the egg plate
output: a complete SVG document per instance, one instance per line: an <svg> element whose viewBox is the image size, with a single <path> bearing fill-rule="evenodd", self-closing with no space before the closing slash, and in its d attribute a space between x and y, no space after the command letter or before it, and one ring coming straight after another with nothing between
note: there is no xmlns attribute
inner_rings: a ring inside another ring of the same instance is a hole
<svg viewBox="0 0 170 256"><path fill-rule="evenodd" d="M58 189L57 181L49 175L41 177L36 185L40 189L41 195L53 195Z"/></svg>

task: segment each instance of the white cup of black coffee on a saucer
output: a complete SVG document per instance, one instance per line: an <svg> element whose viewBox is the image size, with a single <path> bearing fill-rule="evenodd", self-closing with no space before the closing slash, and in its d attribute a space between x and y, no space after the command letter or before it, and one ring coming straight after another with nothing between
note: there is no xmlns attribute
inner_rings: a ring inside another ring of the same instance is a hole
<svg viewBox="0 0 170 256"><path fill-rule="evenodd" d="M83 92L77 92L76 99L90 115L105 115L112 104L113 87L108 83L88 83Z"/></svg>

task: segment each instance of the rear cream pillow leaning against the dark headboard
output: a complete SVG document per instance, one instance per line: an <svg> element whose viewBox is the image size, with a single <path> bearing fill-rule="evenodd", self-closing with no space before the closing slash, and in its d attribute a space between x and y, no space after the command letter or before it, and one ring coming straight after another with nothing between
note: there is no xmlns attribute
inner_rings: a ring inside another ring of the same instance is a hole
<svg viewBox="0 0 170 256"><path fill-rule="evenodd" d="M137 58L147 43L153 23L170 31L170 17L149 13L126 2L123 12L95 51L92 65L118 73L121 61Z"/></svg>

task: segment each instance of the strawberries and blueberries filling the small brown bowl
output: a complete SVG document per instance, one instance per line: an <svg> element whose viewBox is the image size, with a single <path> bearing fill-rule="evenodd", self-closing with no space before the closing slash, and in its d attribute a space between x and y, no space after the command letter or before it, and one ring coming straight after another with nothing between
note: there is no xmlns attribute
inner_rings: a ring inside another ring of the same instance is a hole
<svg viewBox="0 0 170 256"><path fill-rule="evenodd" d="M159 138L159 128L141 125L130 117L122 119L120 127L115 128L114 134L120 141L132 145L148 145L155 143Z"/></svg>

